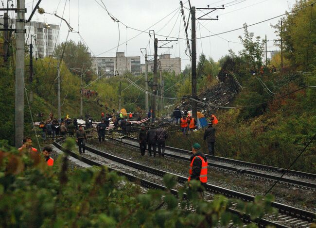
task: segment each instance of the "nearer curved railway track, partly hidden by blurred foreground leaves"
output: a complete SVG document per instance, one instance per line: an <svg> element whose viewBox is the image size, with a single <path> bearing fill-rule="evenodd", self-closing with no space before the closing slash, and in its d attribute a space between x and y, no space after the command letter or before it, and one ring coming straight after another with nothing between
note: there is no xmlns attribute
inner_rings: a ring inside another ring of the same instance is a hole
<svg viewBox="0 0 316 228"><path fill-rule="evenodd" d="M58 142L54 142L54 146L63 149ZM131 162L128 160L125 160L123 158L119 158L110 154L107 154L103 151L97 150L95 148L87 147L86 151L89 151L89 153L86 156L79 156L76 153L73 153L71 151L68 151L71 156L75 156L78 159L81 159L81 161L85 163L89 163L90 165L106 165L109 167L109 170L115 170L118 171L119 175L125 176L130 181L134 181L137 183L140 183L140 186L145 188L153 188L153 189L166 189L162 185L162 177L167 174L165 171L161 171L152 167L148 167L139 163ZM131 175L130 173L133 173ZM135 175L135 176L134 176ZM175 175L175 174L173 174ZM187 182L187 178L175 175L178 178L178 183L175 186L175 189L172 189L172 193L177 195L177 189L185 182ZM148 179L153 180L153 182L148 181ZM221 188L218 186L214 186L211 184L207 184L207 191L205 193L205 199L207 201L211 201L212 197L215 194L222 194L227 197L232 198L239 198L243 201L253 201L254 196L252 195L246 195L239 192L231 191L225 188ZM280 203L272 203L272 206L277 208L280 212L278 217L275 216L267 216L263 219L257 219L255 222L260 227L266 227L267 225L272 225L275 227L309 227L312 222L316 218L316 214L313 212L308 212L304 210L300 210L297 208L293 208L284 204ZM239 216L238 211L234 210L233 208L229 209L230 212L236 213ZM249 215L242 215L242 219L244 222L249 223Z"/></svg>

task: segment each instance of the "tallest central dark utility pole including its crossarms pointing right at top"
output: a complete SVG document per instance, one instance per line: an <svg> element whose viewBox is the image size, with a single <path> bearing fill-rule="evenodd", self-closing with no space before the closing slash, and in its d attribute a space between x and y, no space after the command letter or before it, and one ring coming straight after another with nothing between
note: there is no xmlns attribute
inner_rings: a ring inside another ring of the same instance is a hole
<svg viewBox="0 0 316 228"><path fill-rule="evenodd" d="M190 3L190 1L189 1ZM208 8L197 8L198 10L209 10L208 13L195 18L195 7L191 6L190 4L190 12L191 12L191 49L192 49L192 53L191 53L191 59L192 59L192 87L191 87L191 97L194 99L191 102L192 105L192 116L193 118L197 119L197 104L196 104L196 99L197 99L197 87L196 87L196 34L195 34L195 19L197 20L218 20L218 16L216 16L216 18L204 18L204 16L208 16L211 12L214 12L215 10L218 9L225 9L224 5L222 5L221 8L210 8L208 5Z"/></svg>

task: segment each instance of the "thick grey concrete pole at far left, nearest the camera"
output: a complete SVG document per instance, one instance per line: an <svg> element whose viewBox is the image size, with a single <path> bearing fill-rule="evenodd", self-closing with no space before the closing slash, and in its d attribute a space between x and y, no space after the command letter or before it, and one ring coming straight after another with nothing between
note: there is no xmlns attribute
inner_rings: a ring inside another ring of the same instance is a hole
<svg viewBox="0 0 316 228"><path fill-rule="evenodd" d="M21 147L24 133L24 32L25 0L17 0L16 22L16 97L15 97L15 146Z"/></svg>

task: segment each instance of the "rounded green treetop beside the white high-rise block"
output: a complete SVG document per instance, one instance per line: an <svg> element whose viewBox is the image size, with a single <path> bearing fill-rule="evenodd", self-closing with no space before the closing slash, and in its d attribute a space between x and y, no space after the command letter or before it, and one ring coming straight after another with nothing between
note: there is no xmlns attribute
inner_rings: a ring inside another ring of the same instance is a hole
<svg viewBox="0 0 316 228"><path fill-rule="evenodd" d="M55 58L63 58L64 62L69 68L75 68L77 71L73 73L80 75L81 68L84 70L90 69L92 65L91 54L88 51L88 47L85 44L78 42L77 44L73 41L62 42L55 49Z"/></svg>

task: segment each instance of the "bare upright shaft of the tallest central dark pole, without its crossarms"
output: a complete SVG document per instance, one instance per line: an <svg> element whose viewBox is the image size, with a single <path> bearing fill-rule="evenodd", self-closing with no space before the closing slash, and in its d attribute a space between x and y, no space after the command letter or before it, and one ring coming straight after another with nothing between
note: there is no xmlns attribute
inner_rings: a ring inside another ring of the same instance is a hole
<svg viewBox="0 0 316 228"><path fill-rule="evenodd" d="M191 66L191 70L192 70L192 87L191 87L191 96L193 99L196 99L196 36L195 36L195 7L192 6L191 7L191 49L192 49L192 54L191 54L191 58L192 58L192 66ZM197 105L196 105L196 101L192 100L191 102L192 105L192 116L193 118L196 119L197 117Z"/></svg>

